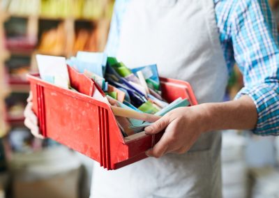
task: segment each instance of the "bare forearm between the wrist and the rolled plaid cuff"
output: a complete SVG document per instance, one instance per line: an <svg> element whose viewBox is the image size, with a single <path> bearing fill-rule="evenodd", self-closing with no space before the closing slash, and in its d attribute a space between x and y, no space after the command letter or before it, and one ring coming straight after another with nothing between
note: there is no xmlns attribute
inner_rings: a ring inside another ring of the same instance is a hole
<svg viewBox="0 0 279 198"><path fill-rule="evenodd" d="M226 129L253 129L257 124L257 109L249 96L239 100L205 103L204 131Z"/></svg>

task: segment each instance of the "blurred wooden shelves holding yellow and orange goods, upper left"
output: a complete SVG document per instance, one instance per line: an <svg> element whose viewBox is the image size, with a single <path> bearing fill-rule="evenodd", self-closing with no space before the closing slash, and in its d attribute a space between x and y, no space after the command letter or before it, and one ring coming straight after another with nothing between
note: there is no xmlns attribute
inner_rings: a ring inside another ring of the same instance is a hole
<svg viewBox="0 0 279 198"><path fill-rule="evenodd" d="M4 81L1 100L7 103L9 94L29 92L26 74L38 70L36 54L69 57L79 50L103 51L113 3L109 0L1 0L0 75ZM22 100L27 99L25 96ZM17 120L8 119L6 124L13 126Z"/></svg>

